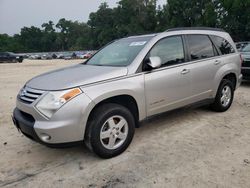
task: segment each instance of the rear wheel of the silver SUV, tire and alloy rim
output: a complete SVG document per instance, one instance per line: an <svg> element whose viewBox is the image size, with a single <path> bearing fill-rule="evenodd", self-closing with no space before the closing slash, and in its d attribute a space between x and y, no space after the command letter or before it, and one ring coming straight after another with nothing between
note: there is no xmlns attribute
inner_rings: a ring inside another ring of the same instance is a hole
<svg viewBox="0 0 250 188"><path fill-rule="evenodd" d="M234 98L233 83L230 80L223 79L218 88L214 103L211 104L212 110L216 112L227 111L232 105L233 98Z"/></svg>

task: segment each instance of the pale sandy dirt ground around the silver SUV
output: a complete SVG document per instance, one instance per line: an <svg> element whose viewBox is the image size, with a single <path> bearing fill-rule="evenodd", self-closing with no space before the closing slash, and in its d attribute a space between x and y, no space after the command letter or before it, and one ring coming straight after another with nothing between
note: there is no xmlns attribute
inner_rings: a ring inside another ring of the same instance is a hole
<svg viewBox="0 0 250 188"><path fill-rule="evenodd" d="M130 147L103 160L84 146L51 149L17 132L15 98L35 75L79 61L0 64L0 187L250 187L250 83L231 109L184 108L136 130Z"/></svg>

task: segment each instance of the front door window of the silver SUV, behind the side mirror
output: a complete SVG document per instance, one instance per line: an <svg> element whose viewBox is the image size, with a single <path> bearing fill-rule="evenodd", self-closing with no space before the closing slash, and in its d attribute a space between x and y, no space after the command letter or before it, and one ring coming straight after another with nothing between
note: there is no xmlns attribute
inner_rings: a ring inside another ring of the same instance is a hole
<svg viewBox="0 0 250 188"><path fill-rule="evenodd" d="M161 58L162 66L170 66L184 62L184 49L181 36L168 37L160 40L151 49L149 57Z"/></svg>

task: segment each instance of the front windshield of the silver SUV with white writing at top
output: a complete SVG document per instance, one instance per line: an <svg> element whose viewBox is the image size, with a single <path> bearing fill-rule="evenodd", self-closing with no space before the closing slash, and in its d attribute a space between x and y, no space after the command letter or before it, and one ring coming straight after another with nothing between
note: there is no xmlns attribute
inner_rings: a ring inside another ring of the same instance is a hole
<svg viewBox="0 0 250 188"><path fill-rule="evenodd" d="M153 36L120 39L97 52L91 59L89 59L87 64L115 67L128 66L152 38Z"/></svg>

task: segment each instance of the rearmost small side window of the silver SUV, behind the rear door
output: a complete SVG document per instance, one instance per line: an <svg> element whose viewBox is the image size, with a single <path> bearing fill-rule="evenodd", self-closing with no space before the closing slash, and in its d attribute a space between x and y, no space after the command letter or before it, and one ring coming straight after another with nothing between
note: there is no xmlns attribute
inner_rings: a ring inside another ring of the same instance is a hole
<svg viewBox="0 0 250 188"><path fill-rule="evenodd" d="M215 45L220 49L223 55L234 53L235 50L231 44L224 38L218 36L211 36Z"/></svg>

